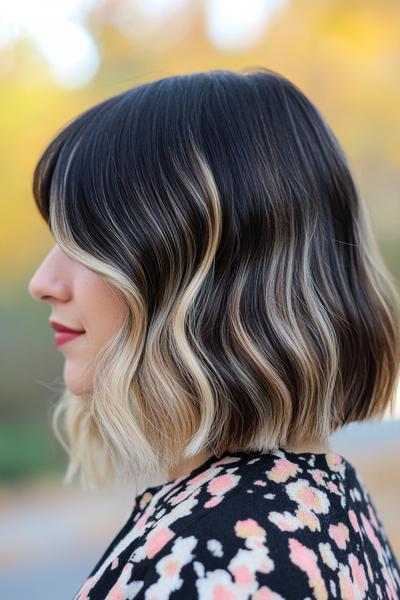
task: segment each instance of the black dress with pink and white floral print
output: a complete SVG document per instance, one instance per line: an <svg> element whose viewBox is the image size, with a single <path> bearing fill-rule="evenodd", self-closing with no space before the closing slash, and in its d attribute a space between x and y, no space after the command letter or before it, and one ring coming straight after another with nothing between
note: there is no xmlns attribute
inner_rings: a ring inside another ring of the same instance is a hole
<svg viewBox="0 0 400 600"><path fill-rule="evenodd" d="M328 453L224 452L147 487L74 600L400 598L358 472Z"/></svg>

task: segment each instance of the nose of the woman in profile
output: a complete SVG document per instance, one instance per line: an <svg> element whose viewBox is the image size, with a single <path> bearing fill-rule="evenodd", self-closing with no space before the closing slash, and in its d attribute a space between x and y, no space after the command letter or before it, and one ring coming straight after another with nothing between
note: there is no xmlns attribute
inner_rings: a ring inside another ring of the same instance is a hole
<svg viewBox="0 0 400 600"><path fill-rule="evenodd" d="M28 284L29 294L34 300L67 300L68 286L54 247L40 263Z"/></svg>

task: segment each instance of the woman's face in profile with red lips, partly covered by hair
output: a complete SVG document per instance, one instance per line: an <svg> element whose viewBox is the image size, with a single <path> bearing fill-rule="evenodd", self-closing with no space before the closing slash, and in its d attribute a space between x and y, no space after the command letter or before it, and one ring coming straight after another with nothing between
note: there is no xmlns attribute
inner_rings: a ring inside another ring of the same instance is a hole
<svg viewBox="0 0 400 600"><path fill-rule="evenodd" d="M122 325L126 305L109 283L70 258L58 244L37 268L28 290L35 300L49 302L49 321L83 331L58 348L65 356L65 385L76 395L88 393L94 359Z"/></svg>

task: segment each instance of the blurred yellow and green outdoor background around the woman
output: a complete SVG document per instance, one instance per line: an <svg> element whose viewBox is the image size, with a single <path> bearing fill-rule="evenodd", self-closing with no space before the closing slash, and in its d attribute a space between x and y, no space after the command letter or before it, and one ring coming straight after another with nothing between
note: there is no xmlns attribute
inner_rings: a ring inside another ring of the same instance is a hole
<svg viewBox="0 0 400 600"><path fill-rule="evenodd" d="M27 292L53 239L35 162L78 113L160 77L247 66L300 86L335 131L400 283L398 0L0 1L0 597L71 599L132 508L134 486L64 486L49 411L63 355ZM360 374L362 376L362 374ZM358 467L400 556L400 401L333 449ZM153 482L154 483L154 482ZM56 586L56 587L54 587Z"/></svg>

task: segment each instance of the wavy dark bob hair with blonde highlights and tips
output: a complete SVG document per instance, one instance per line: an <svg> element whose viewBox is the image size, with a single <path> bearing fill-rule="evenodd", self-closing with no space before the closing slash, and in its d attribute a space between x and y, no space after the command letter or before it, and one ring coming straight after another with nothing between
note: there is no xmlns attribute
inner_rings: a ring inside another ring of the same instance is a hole
<svg viewBox="0 0 400 600"><path fill-rule="evenodd" d="M127 318L52 425L84 488L393 412L399 301L318 109L263 67L165 77L59 131L33 193Z"/></svg>

